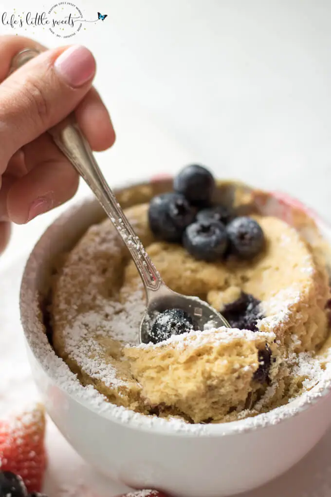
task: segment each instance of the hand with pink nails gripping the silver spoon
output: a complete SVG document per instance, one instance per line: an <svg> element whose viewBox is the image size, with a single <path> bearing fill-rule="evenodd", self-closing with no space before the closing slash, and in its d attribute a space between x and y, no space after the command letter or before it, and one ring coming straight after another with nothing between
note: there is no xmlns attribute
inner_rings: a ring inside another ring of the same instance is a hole
<svg viewBox="0 0 331 497"><path fill-rule="evenodd" d="M25 48L43 52L7 77ZM71 198L78 174L46 131L75 111L95 151L111 147L113 126L92 80L95 60L81 46L46 50L18 36L0 36L0 252L10 222L23 224Z"/></svg>

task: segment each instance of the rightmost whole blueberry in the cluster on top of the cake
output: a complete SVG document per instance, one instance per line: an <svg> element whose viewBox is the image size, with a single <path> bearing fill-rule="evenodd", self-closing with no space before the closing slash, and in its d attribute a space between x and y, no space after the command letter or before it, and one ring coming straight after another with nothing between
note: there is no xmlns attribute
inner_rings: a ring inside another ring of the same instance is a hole
<svg viewBox="0 0 331 497"><path fill-rule="evenodd" d="M226 231L230 252L243 259L252 259L261 252L265 237L261 226L254 219L243 216L231 221Z"/></svg>

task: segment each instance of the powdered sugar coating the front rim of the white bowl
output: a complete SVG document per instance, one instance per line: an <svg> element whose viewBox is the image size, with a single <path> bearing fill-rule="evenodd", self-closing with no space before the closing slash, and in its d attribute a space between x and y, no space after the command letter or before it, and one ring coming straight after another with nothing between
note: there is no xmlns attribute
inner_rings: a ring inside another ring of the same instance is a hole
<svg viewBox="0 0 331 497"><path fill-rule="evenodd" d="M313 399L317 399L318 397L325 395L328 392L328 388L331 388L331 371L329 371L329 374L324 374L324 376L320 379L318 385L315 386L314 390L309 393L310 395L303 395L296 399L294 403L289 404L288 406L276 408L269 413L260 414L259 416L253 418L249 417L242 419L240 423L235 422L228 423L226 425L188 424L179 418L165 419L158 418L156 416L146 416L134 413L133 411L107 402L105 397L91 385L86 387L82 386L76 375L69 370L66 363L61 358L56 356L48 343L46 335L41 329L41 325L36 322L34 316L36 316L36 311L38 309L38 299L32 298L31 291L30 295L27 293L26 296L29 301L29 312L25 309L23 313L26 320L25 328L28 330L30 346L37 355L38 361L41 363L47 375L53 378L53 381L55 381L63 391L66 391L70 396L79 399L80 402L86 403L89 409L92 409L101 415L118 419L122 423L133 423L136 426L148 425L150 428L153 426L163 426L163 429L165 430L174 430L182 432L183 434L195 433L196 435L211 435L215 428L217 429L217 432L223 432L223 434L226 435L228 433L227 426L230 427L230 425L232 425L231 433L245 432L247 430L266 426L270 422L272 424L276 424L288 416L299 413L304 406L309 405ZM240 331L240 333L242 333L242 331Z"/></svg>

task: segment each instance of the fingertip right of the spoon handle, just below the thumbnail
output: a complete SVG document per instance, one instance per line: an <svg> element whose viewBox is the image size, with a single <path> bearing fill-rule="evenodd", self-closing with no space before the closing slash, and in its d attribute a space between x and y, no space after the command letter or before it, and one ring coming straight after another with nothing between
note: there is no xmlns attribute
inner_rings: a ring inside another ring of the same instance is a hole
<svg viewBox="0 0 331 497"><path fill-rule="evenodd" d="M115 142L115 132L101 97L91 88L75 110L77 122L91 148L106 150Z"/></svg>

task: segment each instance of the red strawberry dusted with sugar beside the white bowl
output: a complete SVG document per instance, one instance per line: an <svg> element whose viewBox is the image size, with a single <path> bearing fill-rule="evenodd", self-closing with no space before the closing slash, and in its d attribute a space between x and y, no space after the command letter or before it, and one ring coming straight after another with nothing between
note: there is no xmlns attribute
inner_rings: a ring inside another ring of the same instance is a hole
<svg viewBox="0 0 331 497"><path fill-rule="evenodd" d="M0 469L19 475L29 493L41 492L46 468L45 412L38 405L14 420L0 421Z"/></svg>

